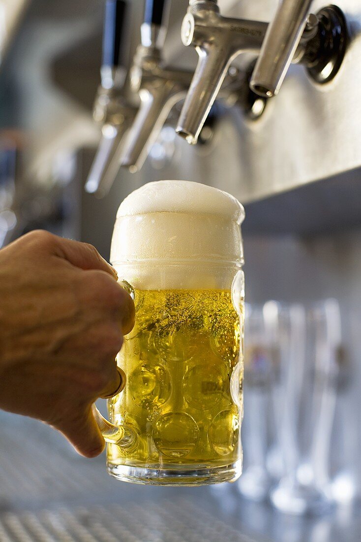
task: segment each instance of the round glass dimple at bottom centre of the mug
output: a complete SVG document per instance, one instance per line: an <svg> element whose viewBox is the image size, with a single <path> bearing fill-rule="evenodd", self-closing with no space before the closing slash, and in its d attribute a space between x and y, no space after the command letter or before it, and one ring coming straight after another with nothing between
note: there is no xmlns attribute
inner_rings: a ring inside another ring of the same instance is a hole
<svg viewBox="0 0 361 542"><path fill-rule="evenodd" d="M185 412L168 412L157 420L153 429L155 446L166 457L185 457L199 439L199 429Z"/></svg>

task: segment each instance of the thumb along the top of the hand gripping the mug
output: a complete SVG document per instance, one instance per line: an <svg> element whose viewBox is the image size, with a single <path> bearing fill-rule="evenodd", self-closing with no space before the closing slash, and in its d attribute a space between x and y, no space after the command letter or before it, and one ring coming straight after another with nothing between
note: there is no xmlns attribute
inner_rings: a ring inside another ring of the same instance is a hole
<svg viewBox="0 0 361 542"><path fill-rule="evenodd" d="M55 254L62 259L67 260L75 267L85 270L96 269L99 271L106 271L117 279L114 267L104 260L96 248L91 244L58 237Z"/></svg>

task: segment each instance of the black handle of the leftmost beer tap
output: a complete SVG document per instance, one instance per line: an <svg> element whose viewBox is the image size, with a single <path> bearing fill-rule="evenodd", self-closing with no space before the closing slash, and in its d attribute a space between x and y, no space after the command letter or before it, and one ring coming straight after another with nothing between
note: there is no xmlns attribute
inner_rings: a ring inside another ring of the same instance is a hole
<svg viewBox="0 0 361 542"><path fill-rule="evenodd" d="M121 52L126 34L127 2L107 0L104 17L103 66L121 64Z"/></svg>

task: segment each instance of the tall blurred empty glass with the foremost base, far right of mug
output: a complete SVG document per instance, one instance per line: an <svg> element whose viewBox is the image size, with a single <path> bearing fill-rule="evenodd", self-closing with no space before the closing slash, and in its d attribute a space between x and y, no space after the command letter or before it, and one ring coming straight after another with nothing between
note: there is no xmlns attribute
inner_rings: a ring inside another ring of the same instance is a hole
<svg viewBox="0 0 361 542"><path fill-rule="evenodd" d="M280 365L272 395L283 475L270 498L282 512L321 513L332 505L329 459L340 344L336 300L280 307Z"/></svg>

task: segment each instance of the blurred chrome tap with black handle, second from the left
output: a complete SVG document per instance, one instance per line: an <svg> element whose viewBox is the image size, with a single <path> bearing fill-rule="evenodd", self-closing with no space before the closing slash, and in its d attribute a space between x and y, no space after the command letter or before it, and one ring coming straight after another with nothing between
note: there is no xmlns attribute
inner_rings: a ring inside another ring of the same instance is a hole
<svg viewBox="0 0 361 542"><path fill-rule="evenodd" d="M169 0L146 0L141 44L130 74L130 86L141 105L123 147L121 165L139 171L173 106L185 98L193 73L166 67L162 49L166 39Z"/></svg>

